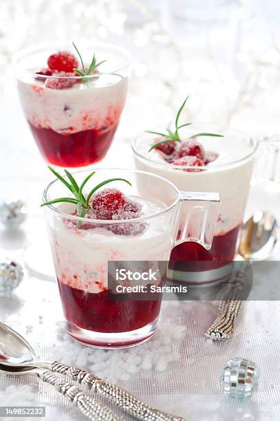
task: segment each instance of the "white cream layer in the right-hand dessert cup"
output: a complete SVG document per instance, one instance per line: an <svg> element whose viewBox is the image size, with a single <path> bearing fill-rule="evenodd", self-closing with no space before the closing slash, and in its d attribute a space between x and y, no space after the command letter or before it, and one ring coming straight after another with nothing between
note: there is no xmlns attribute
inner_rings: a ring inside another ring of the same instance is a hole
<svg viewBox="0 0 280 421"><path fill-rule="evenodd" d="M208 164L207 171L183 171L167 164L158 151L148 152L152 143L152 138L148 136L143 136L143 141L138 143L137 152L142 158L135 155L135 162L137 169L161 175L180 190L220 193L220 215L215 235L223 235L242 223L253 166L253 147L234 136L208 137L200 142L207 153L219 155L217 160ZM244 158L247 155L248 158ZM191 206L193 204L184 202L180 226L183 226Z"/></svg>

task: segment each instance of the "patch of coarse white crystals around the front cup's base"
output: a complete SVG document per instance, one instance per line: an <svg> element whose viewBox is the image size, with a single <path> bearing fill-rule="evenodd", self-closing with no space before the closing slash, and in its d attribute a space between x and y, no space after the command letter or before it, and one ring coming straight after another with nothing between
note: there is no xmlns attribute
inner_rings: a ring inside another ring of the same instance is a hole
<svg viewBox="0 0 280 421"><path fill-rule="evenodd" d="M75 343L58 324L62 343L53 349L53 359L88 369L111 382L126 381L141 369L165 371L169 363L180 358L174 350L185 334L185 326L160 323L154 336L137 347L128 349L93 349Z"/></svg>

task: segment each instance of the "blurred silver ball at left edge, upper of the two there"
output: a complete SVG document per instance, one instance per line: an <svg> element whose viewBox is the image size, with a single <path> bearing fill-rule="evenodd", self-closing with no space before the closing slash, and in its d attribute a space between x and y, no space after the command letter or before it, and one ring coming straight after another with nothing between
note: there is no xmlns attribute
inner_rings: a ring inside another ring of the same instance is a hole
<svg viewBox="0 0 280 421"><path fill-rule="evenodd" d="M0 222L5 228L19 228L26 215L26 207L21 200L0 202Z"/></svg>

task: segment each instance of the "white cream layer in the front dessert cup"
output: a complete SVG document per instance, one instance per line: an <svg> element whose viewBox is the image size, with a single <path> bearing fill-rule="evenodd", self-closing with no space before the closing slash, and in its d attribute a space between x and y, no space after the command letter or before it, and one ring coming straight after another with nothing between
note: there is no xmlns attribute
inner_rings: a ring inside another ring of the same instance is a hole
<svg viewBox="0 0 280 421"><path fill-rule="evenodd" d="M155 201L144 203L138 199L137 202L144 204L143 215L166 207ZM71 206L61 204L59 207L71 214ZM85 292L98 293L107 288L109 260L168 260L174 241L174 228L168 223L169 219L170 213L164 213L148 219L148 227L139 235L115 235L105 228L69 228L65 219L56 217L49 235L59 281Z"/></svg>

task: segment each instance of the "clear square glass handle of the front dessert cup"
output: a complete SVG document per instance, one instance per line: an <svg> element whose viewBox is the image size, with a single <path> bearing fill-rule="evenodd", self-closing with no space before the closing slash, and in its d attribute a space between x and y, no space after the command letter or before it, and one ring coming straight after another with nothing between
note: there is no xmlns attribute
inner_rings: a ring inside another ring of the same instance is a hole
<svg viewBox="0 0 280 421"><path fill-rule="evenodd" d="M184 215L181 207L175 246L196 241L210 250L220 210L220 194L181 191L179 199L186 204L187 213Z"/></svg>

